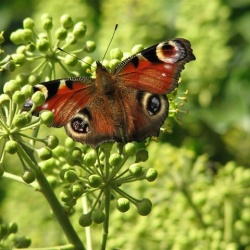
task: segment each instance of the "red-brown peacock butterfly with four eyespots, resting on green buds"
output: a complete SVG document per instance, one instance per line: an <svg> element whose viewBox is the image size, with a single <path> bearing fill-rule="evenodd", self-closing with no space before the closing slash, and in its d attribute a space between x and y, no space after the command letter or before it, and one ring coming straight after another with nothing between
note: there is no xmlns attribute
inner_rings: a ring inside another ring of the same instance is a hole
<svg viewBox="0 0 250 250"><path fill-rule="evenodd" d="M96 62L96 78L72 77L34 86L54 113L52 126L95 148L106 141L142 141L159 136L168 116L166 94L178 86L184 65L195 56L183 38L167 40L125 59L110 73ZM32 102L25 103L30 108Z"/></svg>

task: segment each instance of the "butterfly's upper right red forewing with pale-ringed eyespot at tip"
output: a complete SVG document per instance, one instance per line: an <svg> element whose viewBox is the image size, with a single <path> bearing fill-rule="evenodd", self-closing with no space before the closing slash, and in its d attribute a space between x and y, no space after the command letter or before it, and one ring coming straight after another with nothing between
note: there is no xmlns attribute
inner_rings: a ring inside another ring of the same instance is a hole
<svg viewBox="0 0 250 250"><path fill-rule="evenodd" d="M184 65L195 60L190 42L177 38L142 50L126 59L114 75L124 85L154 94L173 91Z"/></svg>

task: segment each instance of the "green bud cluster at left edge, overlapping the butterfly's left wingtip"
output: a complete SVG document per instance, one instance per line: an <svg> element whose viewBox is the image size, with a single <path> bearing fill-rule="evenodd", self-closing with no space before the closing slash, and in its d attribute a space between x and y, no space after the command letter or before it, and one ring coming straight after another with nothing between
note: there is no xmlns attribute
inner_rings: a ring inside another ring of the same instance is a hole
<svg viewBox="0 0 250 250"><path fill-rule="evenodd" d="M32 101L32 107L26 110L24 104L29 99ZM4 172L2 167L4 154L13 155L17 153L21 158L24 156L21 161L23 163L23 180L26 183L33 182L35 173L32 170L32 164L27 162L29 159L25 157L25 152L27 153L27 150L30 153L35 152L35 149L27 139L45 144L45 147L37 150L42 160L50 158L52 155L51 149L58 145L58 139L55 136L40 139L24 133L26 130L36 129L41 124L51 125L53 122L53 113L50 111L44 111L39 117L32 117L32 112L44 101L44 95L41 92L33 94L33 88L30 85L22 86L17 80L10 80L5 83L3 94L0 95L0 142L1 145L4 145L0 158L1 175Z"/></svg>

